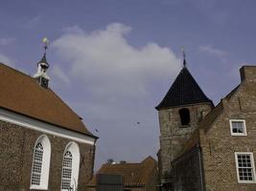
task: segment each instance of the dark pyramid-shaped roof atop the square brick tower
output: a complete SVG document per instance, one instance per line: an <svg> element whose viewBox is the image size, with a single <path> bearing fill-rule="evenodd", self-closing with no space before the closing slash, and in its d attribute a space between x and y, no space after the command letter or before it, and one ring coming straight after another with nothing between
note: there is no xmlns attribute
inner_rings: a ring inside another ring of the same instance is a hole
<svg viewBox="0 0 256 191"><path fill-rule="evenodd" d="M161 110L164 108L204 102L209 102L213 105L212 100L204 95L197 81L192 74L190 74L186 66L184 66L175 78L175 82L166 96L155 109Z"/></svg>

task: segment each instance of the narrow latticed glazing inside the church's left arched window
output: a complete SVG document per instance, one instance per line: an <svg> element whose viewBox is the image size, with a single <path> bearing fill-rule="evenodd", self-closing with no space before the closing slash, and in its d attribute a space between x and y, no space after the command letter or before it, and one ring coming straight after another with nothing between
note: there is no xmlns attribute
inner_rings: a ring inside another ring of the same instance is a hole
<svg viewBox="0 0 256 191"><path fill-rule="evenodd" d="M34 162L32 169L32 185L40 185L41 173L42 173L42 159L43 159L43 146L39 142L35 146Z"/></svg>

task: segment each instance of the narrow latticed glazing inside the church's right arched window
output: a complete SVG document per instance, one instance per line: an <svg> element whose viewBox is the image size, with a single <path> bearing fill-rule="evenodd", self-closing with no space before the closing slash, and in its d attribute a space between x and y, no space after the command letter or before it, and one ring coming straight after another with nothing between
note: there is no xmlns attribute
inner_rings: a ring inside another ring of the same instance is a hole
<svg viewBox="0 0 256 191"><path fill-rule="evenodd" d="M63 158L63 167L62 167L62 189L71 188L71 175L72 175L72 154L70 151L67 151Z"/></svg>

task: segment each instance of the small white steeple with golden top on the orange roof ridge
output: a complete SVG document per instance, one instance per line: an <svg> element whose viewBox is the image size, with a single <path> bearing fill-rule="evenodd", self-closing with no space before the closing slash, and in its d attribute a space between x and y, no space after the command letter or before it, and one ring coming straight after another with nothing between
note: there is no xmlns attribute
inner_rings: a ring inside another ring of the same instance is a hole
<svg viewBox="0 0 256 191"><path fill-rule="evenodd" d="M48 49L49 40L47 38L43 38L44 44L44 54L41 60L37 63L37 72L34 75L34 78L39 82L39 85L48 88L50 77L46 74L47 69L50 67L49 63L46 60L46 51Z"/></svg>

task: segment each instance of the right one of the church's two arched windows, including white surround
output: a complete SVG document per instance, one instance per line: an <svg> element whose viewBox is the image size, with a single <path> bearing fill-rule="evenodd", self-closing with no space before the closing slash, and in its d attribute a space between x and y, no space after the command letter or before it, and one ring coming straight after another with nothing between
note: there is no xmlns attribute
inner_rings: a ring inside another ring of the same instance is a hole
<svg viewBox="0 0 256 191"><path fill-rule="evenodd" d="M75 142L67 144L62 161L61 190L76 190L79 180L80 150Z"/></svg>

